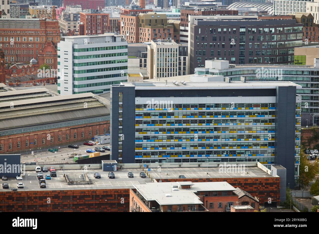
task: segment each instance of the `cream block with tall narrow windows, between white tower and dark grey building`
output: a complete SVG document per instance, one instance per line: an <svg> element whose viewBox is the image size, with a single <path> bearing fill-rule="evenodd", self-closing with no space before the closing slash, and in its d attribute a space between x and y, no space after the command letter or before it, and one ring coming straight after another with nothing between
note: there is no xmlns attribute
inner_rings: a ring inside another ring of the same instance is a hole
<svg viewBox="0 0 319 234"><path fill-rule="evenodd" d="M173 40L152 40L147 46L147 76L149 79L187 75L187 45Z"/></svg>

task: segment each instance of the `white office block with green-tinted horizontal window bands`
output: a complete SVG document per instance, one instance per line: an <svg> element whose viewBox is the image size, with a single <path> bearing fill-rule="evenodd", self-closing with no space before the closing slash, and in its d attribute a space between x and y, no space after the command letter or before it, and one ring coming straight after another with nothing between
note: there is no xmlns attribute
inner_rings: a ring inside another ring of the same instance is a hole
<svg viewBox="0 0 319 234"><path fill-rule="evenodd" d="M107 93L127 81L127 41L121 35L64 37L58 43L58 93Z"/></svg>

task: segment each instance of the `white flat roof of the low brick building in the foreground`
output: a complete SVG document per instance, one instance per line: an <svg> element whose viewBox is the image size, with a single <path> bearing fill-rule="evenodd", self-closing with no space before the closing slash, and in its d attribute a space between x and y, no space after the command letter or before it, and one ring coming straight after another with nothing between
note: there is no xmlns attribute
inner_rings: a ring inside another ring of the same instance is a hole
<svg viewBox="0 0 319 234"><path fill-rule="evenodd" d="M174 188L181 182L161 182L134 184L133 186L147 201L156 201L159 205L203 204L195 195L197 191L234 191L227 182L187 182L192 183L190 189Z"/></svg>

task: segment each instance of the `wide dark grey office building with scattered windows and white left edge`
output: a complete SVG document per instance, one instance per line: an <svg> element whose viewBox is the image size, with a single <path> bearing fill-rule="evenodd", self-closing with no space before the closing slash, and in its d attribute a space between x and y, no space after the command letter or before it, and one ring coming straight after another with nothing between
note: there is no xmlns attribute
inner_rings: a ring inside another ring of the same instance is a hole
<svg viewBox="0 0 319 234"><path fill-rule="evenodd" d="M211 59L232 64L293 64L294 48L302 45L302 24L295 19L189 18L190 73Z"/></svg>

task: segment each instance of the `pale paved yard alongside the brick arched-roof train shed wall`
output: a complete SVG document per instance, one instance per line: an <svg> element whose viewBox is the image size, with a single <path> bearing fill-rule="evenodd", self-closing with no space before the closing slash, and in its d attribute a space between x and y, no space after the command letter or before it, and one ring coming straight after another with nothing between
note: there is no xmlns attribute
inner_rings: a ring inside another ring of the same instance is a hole
<svg viewBox="0 0 319 234"><path fill-rule="evenodd" d="M87 149L94 149L95 147L101 147L101 146L110 146L110 144L100 144L100 145L93 145L93 146L88 146L88 145L83 145L82 142L74 143L75 145L78 145L78 149L73 149L73 148L68 148L68 145L64 146L49 146L46 147L45 151L42 148L39 148L38 150L40 152L37 152L36 150L34 151L34 155L31 154L21 154L21 163L25 162L54 162L54 161L62 161L65 159L65 161L73 160L73 156L71 155L72 153L76 154L87 154L86 150ZM48 148L58 148L59 151L57 152L49 152L47 151ZM110 151L105 151L104 153L100 153L100 155L108 155L110 154ZM53 163L51 163L53 164Z"/></svg>

